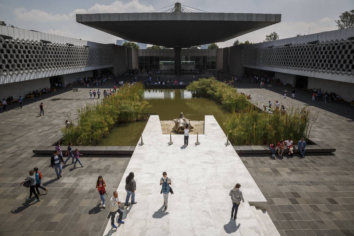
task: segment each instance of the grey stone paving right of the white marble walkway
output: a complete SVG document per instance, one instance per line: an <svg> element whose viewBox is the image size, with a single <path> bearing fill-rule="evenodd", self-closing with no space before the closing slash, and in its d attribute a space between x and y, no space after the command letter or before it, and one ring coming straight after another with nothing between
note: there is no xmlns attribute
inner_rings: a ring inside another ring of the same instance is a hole
<svg viewBox="0 0 354 236"><path fill-rule="evenodd" d="M279 100L287 107L309 105L319 112L311 130L315 142L336 147L334 154L308 154L288 158L242 156L241 160L267 198L271 219L281 235L354 235L354 107L347 102L311 101L311 94L296 89L295 99L284 99L285 86L259 89L237 84L260 105ZM287 88L288 94L292 88Z"/></svg>

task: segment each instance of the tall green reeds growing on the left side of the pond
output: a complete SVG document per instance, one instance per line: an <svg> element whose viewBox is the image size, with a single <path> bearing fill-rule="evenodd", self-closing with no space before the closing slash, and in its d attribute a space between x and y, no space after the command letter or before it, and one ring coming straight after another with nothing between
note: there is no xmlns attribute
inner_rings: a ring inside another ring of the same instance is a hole
<svg viewBox="0 0 354 236"><path fill-rule="evenodd" d="M77 123L62 129L64 144L72 142L75 146L94 146L109 134L116 123L147 119L150 105L143 96L142 84L125 85L95 105L86 104L78 108ZM68 120L74 123L71 117Z"/></svg>

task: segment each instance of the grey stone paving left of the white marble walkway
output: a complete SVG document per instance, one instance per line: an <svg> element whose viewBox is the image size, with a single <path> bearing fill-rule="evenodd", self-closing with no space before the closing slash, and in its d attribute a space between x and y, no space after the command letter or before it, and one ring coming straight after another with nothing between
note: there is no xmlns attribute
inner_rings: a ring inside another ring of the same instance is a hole
<svg viewBox="0 0 354 236"><path fill-rule="evenodd" d="M108 86L108 88L113 86ZM97 88L91 88L96 89ZM100 90L103 88L100 88ZM56 179L50 165L50 155L33 155L38 145L51 145L48 140L61 136L60 129L68 115L76 116L76 108L89 99L89 89L78 92L57 91L39 98L24 99L23 108L9 105L0 113L0 235L102 235L108 222L108 207L103 209L95 188L98 175L108 184L107 192L116 189L131 155L82 156L83 168L68 165L63 178ZM96 96L97 97L97 96ZM39 115L39 104L44 104L44 116ZM25 203L29 189L19 183L28 171L38 167L43 173L41 201ZM107 204L108 205L108 204Z"/></svg>

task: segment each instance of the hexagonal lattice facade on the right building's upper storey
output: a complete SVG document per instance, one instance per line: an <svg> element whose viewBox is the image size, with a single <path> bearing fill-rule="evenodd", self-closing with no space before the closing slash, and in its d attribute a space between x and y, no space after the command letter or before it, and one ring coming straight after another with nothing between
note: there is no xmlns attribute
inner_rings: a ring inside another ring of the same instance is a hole
<svg viewBox="0 0 354 236"><path fill-rule="evenodd" d="M289 70L354 75L353 40L242 50L242 64Z"/></svg>

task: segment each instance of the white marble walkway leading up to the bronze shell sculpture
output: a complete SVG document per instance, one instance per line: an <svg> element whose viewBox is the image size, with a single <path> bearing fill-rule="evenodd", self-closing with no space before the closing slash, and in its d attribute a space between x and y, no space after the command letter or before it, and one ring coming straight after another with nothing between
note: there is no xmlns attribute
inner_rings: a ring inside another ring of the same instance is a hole
<svg viewBox="0 0 354 236"><path fill-rule="evenodd" d="M224 145L226 136L213 116L205 116L200 145L194 145L196 135L190 135L187 147L182 136L172 138L173 145L168 145L170 136L162 134L159 116L150 116L144 145L137 145L117 190L124 207L125 177L134 172L137 204L124 208L125 224L113 229L109 221L104 235L278 235L276 230L264 233L258 223L251 208L265 210L267 201L233 147ZM159 184L164 171L175 192L167 210ZM229 191L236 183L241 184L245 202L233 221Z"/></svg>

